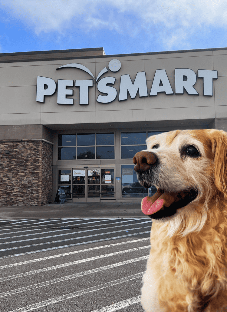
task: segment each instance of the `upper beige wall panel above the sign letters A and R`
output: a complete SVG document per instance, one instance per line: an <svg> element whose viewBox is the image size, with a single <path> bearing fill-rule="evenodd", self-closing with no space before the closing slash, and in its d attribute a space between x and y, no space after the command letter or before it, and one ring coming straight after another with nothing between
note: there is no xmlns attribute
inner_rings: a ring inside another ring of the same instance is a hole
<svg viewBox="0 0 227 312"><path fill-rule="evenodd" d="M197 76L198 69L213 70L212 56L176 57L171 59L144 60L147 80L153 80L156 69L165 69L169 79L175 79L175 68L192 69ZM200 79L200 78L199 78Z"/></svg>

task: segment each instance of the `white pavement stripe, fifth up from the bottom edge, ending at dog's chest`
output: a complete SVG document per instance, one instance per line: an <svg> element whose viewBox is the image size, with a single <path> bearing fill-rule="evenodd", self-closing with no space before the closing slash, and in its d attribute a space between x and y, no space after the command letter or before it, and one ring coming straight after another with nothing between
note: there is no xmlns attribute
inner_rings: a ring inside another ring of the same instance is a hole
<svg viewBox="0 0 227 312"><path fill-rule="evenodd" d="M64 257L64 256L69 256L69 255L74 255L80 252L88 252L88 251L94 251L96 249L101 249L101 248L109 248L109 247L113 247L113 246L119 246L119 245L125 245L125 244L130 244L130 243L136 243L136 242L141 242L141 241L147 241L149 238L141 238L141 239L136 239L134 241L123 241L121 243L115 243L115 244L110 244L110 245L105 245L105 246L98 246L98 247L93 247L93 248L87 248L87 249L82 249L82 250L77 250L77 251L71 251L71 252L66 252L64 254L59 254L59 255L54 255L54 256L49 256L49 257L44 257L44 258L38 258L38 259L32 259L32 260L27 260L27 261L23 261L23 262L17 262L17 263L12 263L12 264L7 264L5 266L0 266L0 270L2 269L7 269L7 268L11 268L13 266L21 266L24 264L28 264L28 263L33 263L33 262L37 262L37 261L43 261L43 260L48 260L48 259L54 259L54 258L58 258L58 257ZM148 245L150 247L150 245Z"/></svg>

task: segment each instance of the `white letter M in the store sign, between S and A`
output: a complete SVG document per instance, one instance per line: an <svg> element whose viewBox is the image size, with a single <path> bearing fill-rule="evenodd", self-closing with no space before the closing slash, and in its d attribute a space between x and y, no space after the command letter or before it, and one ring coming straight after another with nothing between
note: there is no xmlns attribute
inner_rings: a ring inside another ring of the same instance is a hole
<svg viewBox="0 0 227 312"><path fill-rule="evenodd" d="M145 71L137 73L134 83L129 75L122 75L119 90L118 101L125 101L128 93L132 99L135 99L139 90L139 97L147 96L147 81Z"/></svg>

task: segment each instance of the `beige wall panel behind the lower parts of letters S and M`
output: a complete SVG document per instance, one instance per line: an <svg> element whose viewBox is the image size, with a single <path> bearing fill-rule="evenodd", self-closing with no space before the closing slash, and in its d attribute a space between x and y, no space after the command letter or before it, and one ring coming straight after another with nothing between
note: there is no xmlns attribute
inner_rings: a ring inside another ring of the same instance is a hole
<svg viewBox="0 0 227 312"><path fill-rule="evenodd" d="M112 111L112 110L138 110L138 109L144 109L145 108L145 98L139 97L139 94L136 95L135 99L131 99L130 95L128 94L128 100L126 101L118 101L119 97L119 87L120 83L115 82L114 88L117 90L117 97L116 100L112 103L102 104L96 102L96 111L106 110L106 111ZM96 84L97 88L97 84ZM98 95L101 94L96 89L96 99L98 98ZM103 95L103 94L101 94Z"/></svg>

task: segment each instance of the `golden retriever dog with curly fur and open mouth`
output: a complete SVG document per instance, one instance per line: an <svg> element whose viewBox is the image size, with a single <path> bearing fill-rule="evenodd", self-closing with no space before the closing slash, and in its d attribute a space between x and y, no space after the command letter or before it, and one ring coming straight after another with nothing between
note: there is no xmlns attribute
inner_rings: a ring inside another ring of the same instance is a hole
<svg viewBox="0 0 227 312"><path fill-rule="evenodd" d="M176 130L151 136L134 158L152 219L143 275L146 312L227 311L227 133Z"/></svg>

